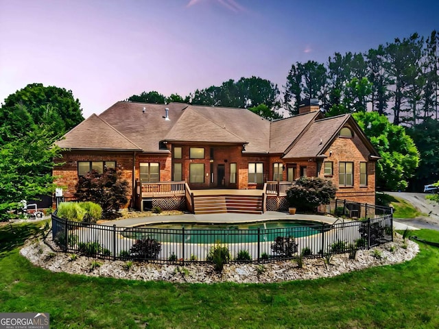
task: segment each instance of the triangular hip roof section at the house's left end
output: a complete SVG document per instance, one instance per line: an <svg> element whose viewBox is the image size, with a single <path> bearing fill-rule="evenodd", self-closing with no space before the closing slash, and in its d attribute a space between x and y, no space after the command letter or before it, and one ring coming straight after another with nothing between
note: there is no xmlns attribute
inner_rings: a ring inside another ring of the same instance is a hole
<svg viewBox="0 0 439 329"><path fill-rule="evenodd" d="M92 114L64 135L56 145L65 149L140 150L126 136L103 119Z"/></svg>

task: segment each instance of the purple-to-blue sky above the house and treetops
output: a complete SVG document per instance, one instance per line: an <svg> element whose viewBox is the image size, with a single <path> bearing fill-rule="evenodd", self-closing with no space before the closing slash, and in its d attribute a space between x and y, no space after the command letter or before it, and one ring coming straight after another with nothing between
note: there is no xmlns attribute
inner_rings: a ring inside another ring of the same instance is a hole
<svg viewBox="0 0 439 329"><path fill-rule="evenodd" d="M142 91L183 97L294 62L439 29L439 1L0 0L0 102L27 84L72 90L84 117Z"/></svg>

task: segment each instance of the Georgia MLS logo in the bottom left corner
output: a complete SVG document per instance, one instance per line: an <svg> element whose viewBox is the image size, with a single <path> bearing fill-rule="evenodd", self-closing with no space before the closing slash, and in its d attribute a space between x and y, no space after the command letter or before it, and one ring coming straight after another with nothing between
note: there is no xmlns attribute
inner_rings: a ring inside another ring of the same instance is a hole
<svg viewBox="0 0 439 329"><path fill-rule="evenodd" d="M0 313L0 329L48 329L49 313Z"/></svg>

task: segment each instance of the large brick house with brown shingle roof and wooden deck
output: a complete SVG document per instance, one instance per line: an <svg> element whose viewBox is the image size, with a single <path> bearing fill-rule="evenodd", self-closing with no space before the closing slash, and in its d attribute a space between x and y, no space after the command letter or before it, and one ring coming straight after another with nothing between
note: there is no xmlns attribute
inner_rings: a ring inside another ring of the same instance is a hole
<svg viewBox="0 0 439 329"><path fill-rule="evenodd" d="M188 190L224 189L262 191L274 198L262 211L279 210L300 176L332 180L337 198L375 204L379 154L350 114L325 119L312 103L268 121L241 108L119 101L57 144L67 149L54 169L67 199L80 175L120 164L137 208L193 210Z"/></svg>

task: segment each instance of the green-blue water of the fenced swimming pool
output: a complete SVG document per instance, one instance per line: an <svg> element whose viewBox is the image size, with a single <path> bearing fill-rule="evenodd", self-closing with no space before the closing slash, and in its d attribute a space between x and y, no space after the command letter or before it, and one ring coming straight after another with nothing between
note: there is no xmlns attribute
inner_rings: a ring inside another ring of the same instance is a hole
<svg viewBox="0 0 439 329"><path fill-rule="evenodd" d="M182 228L185 228L183 231ZM155 239L169 243L257 243L274 241L277 236L300 238L322 232L315 221L265 221L259 223L209 224L166 223L127 229L131 239ZM325 227L325 229L327 229Z"/></svg>

